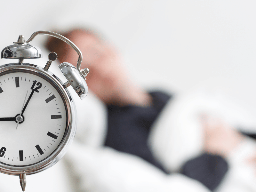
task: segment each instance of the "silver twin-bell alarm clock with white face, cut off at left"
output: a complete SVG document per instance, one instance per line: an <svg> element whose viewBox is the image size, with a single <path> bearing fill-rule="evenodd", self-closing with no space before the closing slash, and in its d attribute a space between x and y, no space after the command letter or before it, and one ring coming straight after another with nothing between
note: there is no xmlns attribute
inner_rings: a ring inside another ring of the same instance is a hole
<svg viewBox="0 0 256 192"><path fill-rule="evenodd" d="M29 44L36 35L59 38L79 55L76 68L70 63L58 67L67 82L49 71L57 54L51 52L45 67L24 63L24 59L42 58L42 51ZM5 47L3 59L17 63L0 66L0 172L20 176L22 191L26 175L43 171L56 164L71 144L77 124L75 103L67 87L72 86L81 99L88 93L81 69L82 52L69 39L50 31L36 31L25 41Z"/></svg>

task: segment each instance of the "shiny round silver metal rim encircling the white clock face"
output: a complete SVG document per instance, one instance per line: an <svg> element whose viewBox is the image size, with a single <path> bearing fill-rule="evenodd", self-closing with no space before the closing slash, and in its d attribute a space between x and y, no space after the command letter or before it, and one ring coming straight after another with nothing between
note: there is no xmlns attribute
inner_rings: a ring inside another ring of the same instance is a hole
<svg viewBox="0 0 256 192"><path fill-rule="evenodd" d="M11 63L5 64L0 67L0 74L3 72L12 73L20 70L28 73L38 74L38 76L44 76L47 81L52 84L54 87L57 87L64 99L64 105L67 110L67 125L64 136L59 144L59 146L54 150L54 152L47 156L40 162L31 165L22 165L22 166L12 166L3 164L0 162L0 172L9 174L9 175L20 175L20 174L34 174L37 172L41 172L54 164L56 164L66 153L69 145L72 143L76 133L76 124L77 124L77 116L76 116L76 107L73 102L71 95L68 92L67 87L50 71L45 70L42 67L23 63L20 65L19 63Z"/></svg>

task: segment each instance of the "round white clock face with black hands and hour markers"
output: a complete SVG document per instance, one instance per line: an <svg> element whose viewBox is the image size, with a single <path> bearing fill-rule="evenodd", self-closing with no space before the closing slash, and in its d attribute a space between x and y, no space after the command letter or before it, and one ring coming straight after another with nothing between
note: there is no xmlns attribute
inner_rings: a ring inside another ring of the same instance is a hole
<svg viewBox="0 0 256 192"><path fill-rule="evenodd" d="M37 73L13 70L0 76L0 162L36 164L60 145L67 109L60 91Z"/></svg>

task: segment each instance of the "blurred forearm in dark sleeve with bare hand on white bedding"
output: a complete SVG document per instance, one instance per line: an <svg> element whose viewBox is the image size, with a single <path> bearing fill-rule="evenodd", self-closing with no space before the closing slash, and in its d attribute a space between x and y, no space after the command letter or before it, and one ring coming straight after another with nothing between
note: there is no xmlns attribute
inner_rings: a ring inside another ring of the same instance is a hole
<svg viewBox="0 0 256 192"><path fill-rule="evenodd" d="M189 160L181 173L203 183L214 191L228 171L226 157L244 137L222 120L202 116L204 151L206 153Z"/></svg>

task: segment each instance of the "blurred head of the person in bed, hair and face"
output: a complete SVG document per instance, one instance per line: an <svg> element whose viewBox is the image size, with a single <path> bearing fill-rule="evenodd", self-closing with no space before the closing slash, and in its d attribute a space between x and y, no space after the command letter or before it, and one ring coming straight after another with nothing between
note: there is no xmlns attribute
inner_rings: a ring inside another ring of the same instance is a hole
<svg viewBox="0 0 256 192"><path fill-rule="evenodd" d="M99 37L88 30L74 29L62 34L81 50L83 60L81 68L89 68L87 84L105 103L111 103L117 92L121 92L122 84L128 80L117 52ZM78 54L65 42L50 38L46 44L50 51L56 52L58 60L76 66Z"/></svg>

